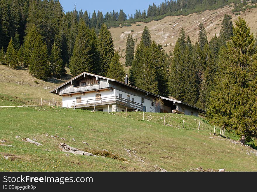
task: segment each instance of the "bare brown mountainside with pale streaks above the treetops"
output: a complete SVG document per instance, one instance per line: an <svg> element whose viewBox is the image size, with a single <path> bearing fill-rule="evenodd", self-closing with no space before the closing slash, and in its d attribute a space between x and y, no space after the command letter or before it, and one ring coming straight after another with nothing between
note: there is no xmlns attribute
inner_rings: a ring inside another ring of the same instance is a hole
<svg viewBox="0 0 257 192"><path fill-rule="evenodd" d="M218 36L221 22L223 21L224 14L231 15L232 21L236 20L238 16L246 20L247 24L251 28L251 33L256 36L257 31L257 8L248 9L245 12L241 12L240 15L231 13L233 7L225 6L217 10L206 10L201 14L193 13L187 16L169 16L159 21L151 21L149 23L138 22L132 24L131 27L111 28L111 34L114 41L115 50L121 51L122 56L125 56L126 49L126 37L128 34L132 34L134 40L137 38L136 44L141 40L144 26L148 26L152 36L152 40L155 40L161 45L168 45L163 47L166 52L172 52L175 43L178 39L181 28L183 27L186 35L189 35L192 43L194 44L199 35L198 25L200 22L204 24L208 40L210 40L215 34ZM141 24L141 26L136 26ZM131 30L133 32L131 32ZM121 59L122 63L125 63L125 58Z"/></svg>

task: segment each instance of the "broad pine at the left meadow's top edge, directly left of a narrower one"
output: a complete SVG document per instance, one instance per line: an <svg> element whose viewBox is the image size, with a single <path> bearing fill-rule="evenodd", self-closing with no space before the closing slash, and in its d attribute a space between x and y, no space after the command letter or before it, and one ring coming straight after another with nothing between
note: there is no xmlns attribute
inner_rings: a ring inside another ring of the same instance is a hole
<svg viewBox="0 0 257 192"><path fill-rule="evenodd" d="M43 43L41 35L38 35L35 40L29 71L34 77L44 81L51 74L46 43Z"/></svg>

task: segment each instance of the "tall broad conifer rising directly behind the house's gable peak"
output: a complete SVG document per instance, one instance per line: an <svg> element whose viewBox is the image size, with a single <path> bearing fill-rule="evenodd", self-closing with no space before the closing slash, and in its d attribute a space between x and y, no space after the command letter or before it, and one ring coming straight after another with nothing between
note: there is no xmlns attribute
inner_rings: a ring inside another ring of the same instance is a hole
<svg viewBox="0 0 257 192"><path fill-rule="evenodd" d="M84 20L79 21L79 31L76 37L73 54L70 59L70 72L76 76L83 72L93 73L93 38L91 30Z"/></svg>

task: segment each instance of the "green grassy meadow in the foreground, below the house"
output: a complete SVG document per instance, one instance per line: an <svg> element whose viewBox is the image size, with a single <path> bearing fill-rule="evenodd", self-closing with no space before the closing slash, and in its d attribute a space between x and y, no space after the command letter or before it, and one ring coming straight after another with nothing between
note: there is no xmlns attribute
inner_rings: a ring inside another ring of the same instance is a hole
<svg viewBox="0 0 257 192"><path fill-rule="evenodd" d="M164 115L166 124L172 126L164 125L161 119ZM124 112L111 115L87 110L24 107L1 108L0 117L0 140L14 146L0 146L0 171L156 171L159 168L187 171L199 167L257 171L257 156L247 155L249 148L210 135L213 127L204 122L198 131L202 119L194 116L145 113L143 121L142 112L128 112L125 117ZM46 133L59 138L47 137ZM15 139L16 135L36 138L43 146ZM59 149L60 142L82 150L106 149L128 161L66 156ZM6 154L13 155L13 160L6 160L3 157Z"/></svg>

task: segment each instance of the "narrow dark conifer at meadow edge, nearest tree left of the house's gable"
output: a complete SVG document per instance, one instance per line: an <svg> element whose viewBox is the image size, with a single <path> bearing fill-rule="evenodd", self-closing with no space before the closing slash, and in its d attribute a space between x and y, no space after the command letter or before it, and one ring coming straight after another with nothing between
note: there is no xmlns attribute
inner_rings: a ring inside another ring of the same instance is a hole
<svg viewBox="0 0 257 192"><path fill-rule="evenodd" d="M65 65L61 59L61 50L55 43L52 46L50 63L53 76L60 77L66 73Z"/></svg>

